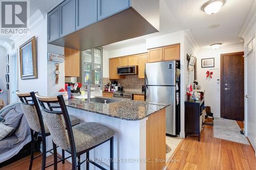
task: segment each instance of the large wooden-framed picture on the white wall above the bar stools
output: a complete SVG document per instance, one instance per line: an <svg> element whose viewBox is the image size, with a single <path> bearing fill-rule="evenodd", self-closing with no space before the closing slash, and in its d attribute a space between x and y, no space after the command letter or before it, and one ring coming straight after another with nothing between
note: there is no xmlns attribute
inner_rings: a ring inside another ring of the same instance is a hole
<svg viewBox="0 0 256 170"><path fill-rule="evenodd" d="M35 36L19 46L21 79L37 79Z"/></svg>

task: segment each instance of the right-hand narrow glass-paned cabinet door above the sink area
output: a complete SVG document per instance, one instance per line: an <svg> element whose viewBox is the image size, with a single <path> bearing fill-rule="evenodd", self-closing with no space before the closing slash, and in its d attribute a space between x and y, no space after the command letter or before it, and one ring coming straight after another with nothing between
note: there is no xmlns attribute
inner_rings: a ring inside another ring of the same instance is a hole
<svg viewBox="0 0 256 170"><path fill-rule="evenodd" d="M94 48L94 55L93 55L93 60L94 60L94 69L98 69L102 71L102 48ZM102 82L100 82L100 72L99 71L94 71L94 85L100 85Z"/></svg>

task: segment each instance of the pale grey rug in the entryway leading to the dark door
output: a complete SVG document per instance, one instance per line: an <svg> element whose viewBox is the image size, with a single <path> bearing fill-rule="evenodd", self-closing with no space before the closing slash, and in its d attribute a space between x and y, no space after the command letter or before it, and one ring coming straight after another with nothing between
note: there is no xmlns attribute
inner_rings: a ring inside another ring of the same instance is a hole
<svg viewBox="0 0 256 170"><path fill-rule="evenodd" d="M246 137L240 133L236 120L214 118L214 137L233 142L249 144Z"/></svg>

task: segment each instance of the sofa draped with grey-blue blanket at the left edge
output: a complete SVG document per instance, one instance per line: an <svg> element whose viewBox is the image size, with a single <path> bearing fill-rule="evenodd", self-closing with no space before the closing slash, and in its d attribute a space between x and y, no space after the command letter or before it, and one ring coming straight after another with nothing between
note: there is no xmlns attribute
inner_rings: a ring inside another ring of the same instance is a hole
<svg viewBox="0 0 256 170"><path fill-rule="evenodd" d="M30 141L30 127L20 103L14 102L1 109L0 167L29 155Z"/></svg>

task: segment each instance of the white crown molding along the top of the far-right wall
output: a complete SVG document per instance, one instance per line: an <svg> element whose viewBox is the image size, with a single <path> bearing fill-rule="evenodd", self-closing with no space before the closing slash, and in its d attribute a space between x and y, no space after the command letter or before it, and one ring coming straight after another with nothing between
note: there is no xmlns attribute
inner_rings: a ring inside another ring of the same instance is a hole
<svg viewBox="0 0 256 170"><path fill-rule="evenodd" d="M256 22L256 1L253 2L249 13L246 16L246 19L243 23L243 26L238 34L238 37L245 38L249 33L250 29Z"/></svg>

